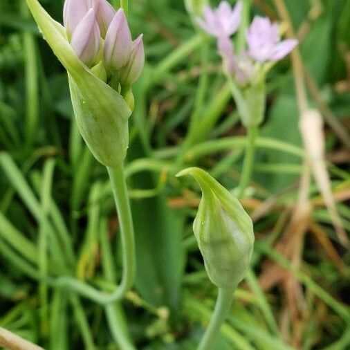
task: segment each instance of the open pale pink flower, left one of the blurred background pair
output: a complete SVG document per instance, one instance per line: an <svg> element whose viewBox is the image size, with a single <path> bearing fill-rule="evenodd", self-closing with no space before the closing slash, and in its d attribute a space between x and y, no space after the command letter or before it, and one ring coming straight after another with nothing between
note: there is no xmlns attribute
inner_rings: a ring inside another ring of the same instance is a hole
<svg viewBox="0 0 350 350"><path fill-rule="evenodd" d="M216 9L205 6L204 19L197 18L197 24L205 32L217 38L230 37L237 32L241 23L242 2L239 1L232 9L227 1L221 1Z"/></svg>

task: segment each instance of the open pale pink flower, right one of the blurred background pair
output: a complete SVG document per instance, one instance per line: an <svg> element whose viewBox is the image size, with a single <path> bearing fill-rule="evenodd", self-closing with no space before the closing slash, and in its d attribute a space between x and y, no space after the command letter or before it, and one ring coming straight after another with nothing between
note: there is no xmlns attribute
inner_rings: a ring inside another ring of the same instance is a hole
<svg viewBox="0 0 350 350"><path fill-rule="evenodd" d="M270 19L255 16L247 33L249 55L257 62L277 61L284 58L297 46L297 40L281 42L278 24Z"/></svg>

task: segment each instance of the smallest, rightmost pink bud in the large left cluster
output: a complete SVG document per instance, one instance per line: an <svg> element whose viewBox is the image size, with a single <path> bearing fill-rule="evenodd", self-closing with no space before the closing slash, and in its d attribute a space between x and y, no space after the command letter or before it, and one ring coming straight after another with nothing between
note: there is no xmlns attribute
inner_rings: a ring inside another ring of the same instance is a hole
<svg viewBox="0 0 350 350"><path fill-rule="evenodd" d="M142 37L143 34L132 43L129 62L120 75L120 84L124 86L131 86L136 82L145 65L145 48L143 47Z"/></svg>

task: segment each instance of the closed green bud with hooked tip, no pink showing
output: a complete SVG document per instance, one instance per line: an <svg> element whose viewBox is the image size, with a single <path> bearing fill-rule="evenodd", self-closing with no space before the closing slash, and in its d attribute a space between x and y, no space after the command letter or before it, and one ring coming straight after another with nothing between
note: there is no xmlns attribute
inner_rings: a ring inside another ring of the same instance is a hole
<svg viewBox="0 0 350 350"><path fill-rule="evenodd" d="M252 220L239 201L207 172L191 167L177 176L187 174L196 179L203 193L193 230L205 269L215 286L235 288L250 265Z"/></svg>

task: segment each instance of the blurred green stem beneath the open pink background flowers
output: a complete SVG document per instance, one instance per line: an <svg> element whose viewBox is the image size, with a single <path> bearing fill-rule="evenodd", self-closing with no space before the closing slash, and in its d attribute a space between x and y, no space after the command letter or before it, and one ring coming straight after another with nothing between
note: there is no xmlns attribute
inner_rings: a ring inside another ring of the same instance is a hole
<svg viewBox="0 0 350 350"><path fill-rule="evenodd" d="M246 145L246 154L244 156L243 169L241 173L241 182L239 183L238 199L243 198L244 192L246 191L246 188L250 183L250 178L252 176L252 168L254 165L255 146L258 133L259 127L248 127L248 140Z"/></svg>

